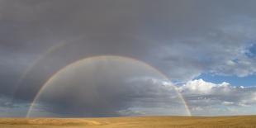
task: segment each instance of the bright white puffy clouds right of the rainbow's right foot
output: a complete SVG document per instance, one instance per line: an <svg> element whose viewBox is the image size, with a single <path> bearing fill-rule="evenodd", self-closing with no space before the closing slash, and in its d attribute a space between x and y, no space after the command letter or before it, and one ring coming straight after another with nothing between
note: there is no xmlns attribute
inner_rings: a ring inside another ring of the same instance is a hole
<svg viewBox="0 0 256 128"><path fill-rule="evenodd" d="M195 115L254 114L256 87L232 86L230 83L208 83L202 79L178 88Z"/></svg>

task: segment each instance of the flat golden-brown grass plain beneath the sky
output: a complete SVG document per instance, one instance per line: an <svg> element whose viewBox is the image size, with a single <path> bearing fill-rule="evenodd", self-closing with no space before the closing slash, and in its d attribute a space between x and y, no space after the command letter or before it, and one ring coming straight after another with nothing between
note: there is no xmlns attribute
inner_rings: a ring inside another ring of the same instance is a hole
<svg viewBox="0 0 256 128"><path fill-rule="evenodd" d="M256 116L0 118L0 128L256 128Z"/></svg>

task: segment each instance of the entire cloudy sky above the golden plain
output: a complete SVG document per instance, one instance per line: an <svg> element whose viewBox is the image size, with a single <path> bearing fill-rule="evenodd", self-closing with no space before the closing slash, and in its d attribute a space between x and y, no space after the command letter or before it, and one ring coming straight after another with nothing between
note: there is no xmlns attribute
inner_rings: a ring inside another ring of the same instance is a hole
<svg viewBox="0 0 256 128"><path fill-rule="evenodd" d="M255 4L0 0L0 116L256 114Z"/></svg>

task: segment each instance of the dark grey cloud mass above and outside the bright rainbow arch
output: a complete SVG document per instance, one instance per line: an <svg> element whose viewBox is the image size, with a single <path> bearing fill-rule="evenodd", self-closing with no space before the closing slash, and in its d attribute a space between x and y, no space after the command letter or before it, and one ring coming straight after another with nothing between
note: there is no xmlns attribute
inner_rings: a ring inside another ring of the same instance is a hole
<svg viewBox="0 0 256 128"><path fill-rule="evenodd" d="M254 5L250 0L2 0L0 93L31 101L53 73L92 55L140 59L182 82L204 72L254 74L256 60L248 55L255 40Z"/></svg>

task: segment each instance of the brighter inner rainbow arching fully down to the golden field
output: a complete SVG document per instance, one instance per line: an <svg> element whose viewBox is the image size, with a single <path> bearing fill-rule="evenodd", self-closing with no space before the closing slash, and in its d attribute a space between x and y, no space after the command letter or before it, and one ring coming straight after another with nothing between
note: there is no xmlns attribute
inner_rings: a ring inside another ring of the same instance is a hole
<svg viewBox="0 0 256 128"><path fill-rule="evenodd" d="M75 66L77 64L79 64L80 62L82 61L91 61L93 59L109 59L109 58L113 58L113 59L126 59L126 60L130 60L132 62L135 62L135 63L138 63L138 64L143 64L145 65L147 68L149 69L153 69L156 73L159 73L163 78L165 78L166 80L169 81L169 78L164 75L164 73L161 73L158 69L155 69L153 66L151 66L150 64L147 64L143 61L140 61L138 59L133 59L133 58L129 58L129 57L124 57L124 56L117 56L117 55L99 55L99 56L92 56L92 57L88 57L88 58L85 58L85 59L79 59L71 64L68 64L66 65L64 68L62 69L59 69L59 71L57 71L56 73L54 73L44 84L43 86L40 88L39 92L37 92L36 94L36 97L33 99L33 102L31 103L31 106L29 107L29 110L27 111L27 114L26 114L26 117L29 117L31 116L31 109L33 108L33 106L35 105L36 103L36 100L40 97L40 94L45 90L45 88L47 87L47 85L49 85L48 83L51 83L56 76L58 76L59 73L61 73L61 71L63 71L65 68L69 67L70 65L72 66ZM187 102L185 101L183 95L178 92L178 88L176 86L173 86L173 88L175 88L176 92L178 93L178 97L180 99L182 99L182 102L185 106L185 109L187 111L187 115L188 116L192 116L188 106L187 106Z"/></svg>

